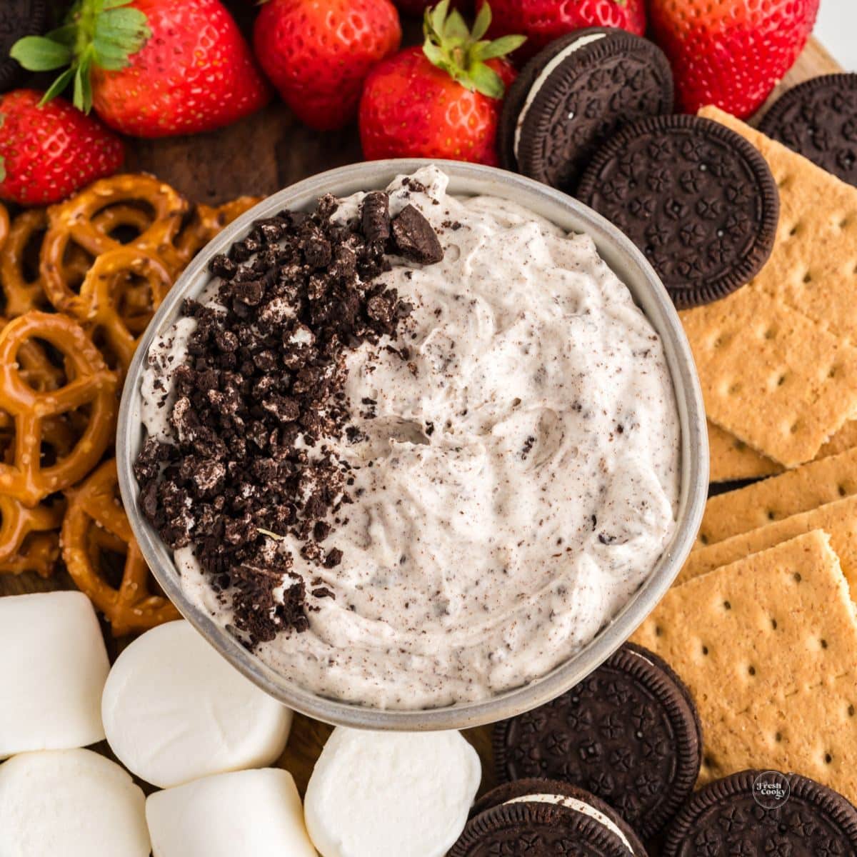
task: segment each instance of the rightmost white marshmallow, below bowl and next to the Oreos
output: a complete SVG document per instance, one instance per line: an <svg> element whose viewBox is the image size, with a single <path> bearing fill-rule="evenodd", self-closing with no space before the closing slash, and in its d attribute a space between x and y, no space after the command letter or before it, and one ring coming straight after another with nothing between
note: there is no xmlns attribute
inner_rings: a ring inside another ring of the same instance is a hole
<svg viewBox="0 0 857 857"><path fill-rule="evenodd" d="M334 729L310 777L309 836L323 857L442 857L482 770L458 732Z"/></svg>

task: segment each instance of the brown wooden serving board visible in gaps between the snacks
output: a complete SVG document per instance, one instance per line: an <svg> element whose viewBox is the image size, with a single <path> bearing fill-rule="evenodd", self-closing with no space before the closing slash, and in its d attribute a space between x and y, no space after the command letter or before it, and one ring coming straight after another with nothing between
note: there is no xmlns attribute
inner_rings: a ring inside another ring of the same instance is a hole
<svg viewBox="0 0 857 857"><path fill-rule="evenodd" d="M250 4L247 0L234 0L230 5L243 26L248 27ZM771 100L808 78L839 70L824 47L812 40ZM759 115L762 112L764 108ZM130 145L128 168L153 173L190 200L220 202L243 194L270 195L317 172L361 159L356 126L321 134L298 123L278 102L243 122L212 134L135 141ZM0 596L73 586L65 572L48 580L34 574L0 576ZM107 636L111 653L115 655L117 644L109 638L109 633ZM15 656L15 653L6 652L4 656ZM289 746L279 764L295 776L302 794L328 734L330 727L326 724L296 716ZM470 729L464 734L482 758L484 791L494 784L490 728Z"/></svg>

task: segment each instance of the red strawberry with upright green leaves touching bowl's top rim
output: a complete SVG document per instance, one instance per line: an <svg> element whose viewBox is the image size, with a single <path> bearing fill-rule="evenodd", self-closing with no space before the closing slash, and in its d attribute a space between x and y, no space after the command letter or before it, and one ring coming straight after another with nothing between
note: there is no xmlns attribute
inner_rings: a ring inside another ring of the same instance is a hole
<svg viewBox="0 0 857 857"><path fill-rule="evenodd" d="M448 13L448 14L447 14ZM497 163L500 106L512 66L501 59L524 41L483 41L483 6L473 32L449 0L425 15L422 48L405 48L377 66L363 87L360 140L367 159L449 158Z"/></svg>

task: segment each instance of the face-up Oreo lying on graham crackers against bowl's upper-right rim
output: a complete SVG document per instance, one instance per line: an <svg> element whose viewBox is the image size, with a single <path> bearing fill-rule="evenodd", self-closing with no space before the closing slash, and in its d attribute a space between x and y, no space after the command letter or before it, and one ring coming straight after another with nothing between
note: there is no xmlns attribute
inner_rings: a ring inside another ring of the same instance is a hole
<svg viewBox="0 0 857 857"><path fill-rule="evenodd" d="M626 126L592 159L578 199L637 244L679 309L749 282L768 261L780 216L762 155L695 116Z"/></svg>

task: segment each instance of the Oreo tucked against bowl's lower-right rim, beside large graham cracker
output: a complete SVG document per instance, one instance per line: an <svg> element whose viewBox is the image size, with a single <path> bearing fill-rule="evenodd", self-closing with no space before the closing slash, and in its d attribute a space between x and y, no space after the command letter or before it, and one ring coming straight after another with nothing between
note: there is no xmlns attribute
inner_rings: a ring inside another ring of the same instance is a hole
<svg viewBox="0 0 857 857"><path fill-rule="evenodd" d="M626 644L553 702L498 723L494 759L500 782L572 782L649 839L691 793L702 734L678 676L650 651Z"/></svg>

